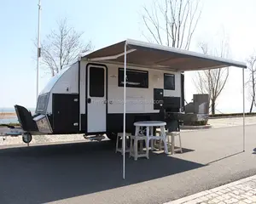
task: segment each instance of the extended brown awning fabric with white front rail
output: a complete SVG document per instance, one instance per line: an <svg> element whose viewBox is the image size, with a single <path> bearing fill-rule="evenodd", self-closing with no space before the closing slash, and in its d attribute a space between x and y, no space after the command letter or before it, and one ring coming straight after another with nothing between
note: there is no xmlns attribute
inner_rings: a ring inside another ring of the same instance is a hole
<svg viewBox="0 0 256 204"><path fill-rule="evenodd" d="M200 71L228 66L247 68L243 62L131 39L96 50L85 55L83 59L123 65L125 43L127 45L127 65L172 71Z"/></svg>

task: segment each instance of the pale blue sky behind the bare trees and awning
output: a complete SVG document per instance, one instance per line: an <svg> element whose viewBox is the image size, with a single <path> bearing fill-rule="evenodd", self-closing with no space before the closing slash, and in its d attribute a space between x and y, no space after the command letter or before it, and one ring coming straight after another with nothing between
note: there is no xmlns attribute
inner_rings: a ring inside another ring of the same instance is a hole
<svg viewBox="0 0 256 204"><path fill-rule="evenodd" d="M61 1L42 0L41 37L55 27L55 21L67 17L78 31L84 31L83 40L91 40L95 49L119 42L125 38L144 40L141 11L148 0ZM37 0L0 1L0 107L15 104L36 105L36 48L33 40L38 29ZM201 20L195 32L191 49L197 50L201 40L209 43L218 39L224 28L230 37L231 59L244 60L256 47L254 20L256 2L253 0L204 0ZM216 41L217 42L217 41ZM186 98L192 99L191 78L186 74ZM49 75L40 70L39 90L44 88ZM230 100L234 101L230 105ZM218 110L241 111L241 70L230 72L230 79L218 101ZM248 106L248 105L247 105Z"/></svg>

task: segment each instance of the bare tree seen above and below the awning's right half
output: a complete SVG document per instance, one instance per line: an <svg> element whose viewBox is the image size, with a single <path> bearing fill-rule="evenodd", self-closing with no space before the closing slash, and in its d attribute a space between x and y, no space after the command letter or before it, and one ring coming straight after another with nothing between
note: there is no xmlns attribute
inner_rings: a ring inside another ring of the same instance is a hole
<svg viewBox="0 0 256 204"><path fill-rule="evenodd" d="M210 54L207 43L201 43L200 46L203 54ZM227 57L228 54L229 47L228 43L225 42L225 39L221 42L220 52L215 49L212 53L212 55L222 58ZM215 114L216 101L218 96L222 93L228 77L229 67L197 71L197 78L194 80L195 87L200 94L209 94L212 115Z"/></svg>

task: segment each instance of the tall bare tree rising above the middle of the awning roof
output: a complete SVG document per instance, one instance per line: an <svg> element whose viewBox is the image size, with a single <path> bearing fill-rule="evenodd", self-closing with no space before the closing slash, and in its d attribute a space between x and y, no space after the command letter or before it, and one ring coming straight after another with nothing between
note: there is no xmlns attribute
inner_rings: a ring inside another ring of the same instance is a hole
<svg viewBox="0 0 256 204"><path fill-rule="evenodd" d="M143 33L148 42L189 49L201 16L199 0L154 0L153 8L143 7Z"/></svg>

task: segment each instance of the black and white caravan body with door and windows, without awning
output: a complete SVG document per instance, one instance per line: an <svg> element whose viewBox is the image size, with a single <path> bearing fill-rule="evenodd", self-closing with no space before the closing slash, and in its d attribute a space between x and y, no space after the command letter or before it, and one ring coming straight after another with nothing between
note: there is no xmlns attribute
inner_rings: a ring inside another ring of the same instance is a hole
<svg viewBox="0 0 256 204"><path fill-rule="evenodd" d="M179 111L180 72L128 66L126 76L127 131L132 131L133 122L138 120L164 120L160 111L165 102L173 112ZM86 60L61 71L39 94L34 116L38 131L87 135L121 132L123 78L121 65Z"/></svg>

